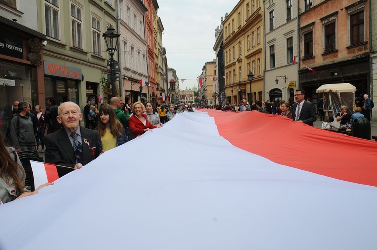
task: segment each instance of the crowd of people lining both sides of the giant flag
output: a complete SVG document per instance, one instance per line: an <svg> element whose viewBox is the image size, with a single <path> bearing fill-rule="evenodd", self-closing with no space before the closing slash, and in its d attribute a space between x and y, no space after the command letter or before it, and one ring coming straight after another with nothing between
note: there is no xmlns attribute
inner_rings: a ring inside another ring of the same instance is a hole
<svg viewBox="0 0 377 250"><path fill-rule="evenodd" d="M280 101L278 105L269 101L249 104L243 100L240 105L226 103L207 108L235 112L256 110L313 126L317 119L314 104L305 99L305 92L301 89L296 90L294 98L295 102L290 98L288 102ZM326 103L327 100L321 101ZM25 171L17 152L37 151L40 143L46 163L65 166L57 167L59 176L63 176L88 164L105 151L135 139L147 131L161 128L176 114L193 111L191 105L155 106L151 102L147 102L145 106L142 102L128 105L119 97L112 97L108 104L101 104L99 108L87 101L83 113L76 103L70 101L58 106L54 98L49 98L47 105L46 112L43 112L39 105L33 109L28 102L14 102L9 137L6 138L12 147L6 147L3 138L0 140L0 204L32 195L40 188L53 184L46 183L34 192L29 192L24 185ZM336 115L341 129L345 129L349 122L358 117L366 117L362 111L371 109L371 105L368 97L364 97L363 102L356 102L352 115L347 113L346 106L342 106ZM318 111L322 120L321 110ZM81 126L82 121L84 126Z"/></svg>

